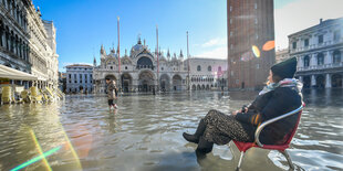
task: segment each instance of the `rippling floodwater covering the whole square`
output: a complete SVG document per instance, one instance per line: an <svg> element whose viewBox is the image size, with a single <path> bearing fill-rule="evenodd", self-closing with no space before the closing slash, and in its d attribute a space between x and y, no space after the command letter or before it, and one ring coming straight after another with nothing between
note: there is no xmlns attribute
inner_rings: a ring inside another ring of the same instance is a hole
<svg viewBox="0 0 343 171"><path fill-rule="evenodd" d="M215 146L198 161L194 132L209 109L239 109L257 93L132 95L116 114L105 96L67 96L53 104L0 106L0 170L44 152L24 170L233 170L233 143ZM290 156L297 170L343 170L343 90L305 90L304 108ZM53 152L52 152L53 151ZM248 150L242 170L288 170L277 151Z"/></svg>

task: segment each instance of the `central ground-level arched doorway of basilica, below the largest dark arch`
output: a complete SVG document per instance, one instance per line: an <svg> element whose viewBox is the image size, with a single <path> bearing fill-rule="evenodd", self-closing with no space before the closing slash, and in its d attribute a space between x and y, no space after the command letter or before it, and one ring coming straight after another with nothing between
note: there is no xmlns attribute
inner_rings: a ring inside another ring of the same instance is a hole
<svg viewBox="0 0 343 171"><path fill-rule="evenodd" d="M153 92L155 88L155 75L153 72L145 70L138 75L138 92Z"/></svg>

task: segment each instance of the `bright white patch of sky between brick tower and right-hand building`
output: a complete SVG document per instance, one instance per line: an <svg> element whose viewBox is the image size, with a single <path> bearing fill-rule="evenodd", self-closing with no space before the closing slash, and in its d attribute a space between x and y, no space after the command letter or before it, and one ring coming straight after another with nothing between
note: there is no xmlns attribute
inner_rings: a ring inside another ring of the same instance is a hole
<svg viewBox="0 0 343 171"><path fill-rule="evenodd" d="M274 11L276 46L288 47L288 35L319 24L320 19L343 17L343 0L298 0Z"/></svg>

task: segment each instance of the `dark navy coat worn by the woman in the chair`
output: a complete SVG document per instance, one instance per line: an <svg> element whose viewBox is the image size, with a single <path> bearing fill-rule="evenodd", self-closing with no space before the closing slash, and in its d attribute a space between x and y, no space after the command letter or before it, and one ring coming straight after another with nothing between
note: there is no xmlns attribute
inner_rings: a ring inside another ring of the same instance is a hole
<svg viewBox="0 0 343 171"><path fill-rule="evenodd" d="M238 113L236 119L254 139L254 131L261 122L292 111L301 105L302 95L295 87L277 87L274 90L259 95L248 107L248 111ZM299 114L294 114L264 127L260 133L260 141L264 145L282 143L285 135L294 128L298 116Z"/></svg>

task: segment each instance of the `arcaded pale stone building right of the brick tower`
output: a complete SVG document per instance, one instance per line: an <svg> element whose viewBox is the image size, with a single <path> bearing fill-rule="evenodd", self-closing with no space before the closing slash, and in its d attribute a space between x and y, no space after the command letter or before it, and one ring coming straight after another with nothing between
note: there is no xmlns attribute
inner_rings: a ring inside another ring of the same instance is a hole
<svg viewBox="0 0 343 171"><path fill-rule="evenodd" d="M290 56L298 58L295 76L304 87L343 85L343 18L289 35Z"/></svg>

